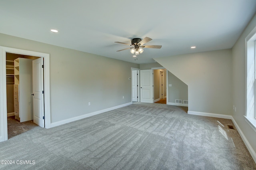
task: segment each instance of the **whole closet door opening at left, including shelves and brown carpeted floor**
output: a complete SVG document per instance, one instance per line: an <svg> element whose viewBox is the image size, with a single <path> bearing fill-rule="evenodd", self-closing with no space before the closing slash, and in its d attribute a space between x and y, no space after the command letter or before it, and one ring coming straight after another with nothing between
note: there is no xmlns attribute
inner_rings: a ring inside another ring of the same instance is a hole
<svg viewBox="0 0 256 170"><path fill-rule="evenodd" d="M32 75L40 77L34 73L32 63L40 58L6 53L8 139L38 125L33 122L36 105L31 94L34 87Z"/></svg>

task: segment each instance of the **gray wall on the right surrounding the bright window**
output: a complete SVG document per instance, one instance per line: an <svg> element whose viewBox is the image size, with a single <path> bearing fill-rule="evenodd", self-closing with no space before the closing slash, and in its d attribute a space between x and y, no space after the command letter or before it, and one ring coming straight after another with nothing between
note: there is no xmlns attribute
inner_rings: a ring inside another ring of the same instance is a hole
<svg viewBox="0 0 256 170"><path fill-rule="evenodd" d="M254 152L256 152L256 132L246 123L244 119L245 115L245 38L256 27L256 16L252 18L250 24L246 27L241 34L238 41L232 48L232 89L233 89L233 105L236 107L236 111L232 109L232 116L236 123L244 133L244 136L252 146Z"/></svg>

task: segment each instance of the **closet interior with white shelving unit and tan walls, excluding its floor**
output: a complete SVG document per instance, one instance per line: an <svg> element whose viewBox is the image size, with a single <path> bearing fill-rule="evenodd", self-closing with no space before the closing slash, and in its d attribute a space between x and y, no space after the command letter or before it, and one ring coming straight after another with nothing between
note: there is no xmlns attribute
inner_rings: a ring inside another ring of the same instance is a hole
<svg viewBox="0 0 256 170"><path fill-rule="evenodd" d="M7 116L33 120L32 60L39 57L6 53Z"/></svg>

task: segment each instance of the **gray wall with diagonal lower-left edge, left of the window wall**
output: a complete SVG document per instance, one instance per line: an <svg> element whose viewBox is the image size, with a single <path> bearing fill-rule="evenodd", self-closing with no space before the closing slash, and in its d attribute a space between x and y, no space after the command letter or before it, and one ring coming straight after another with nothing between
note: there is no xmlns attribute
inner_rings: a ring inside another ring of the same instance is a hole
<svg viewBox="0 0 256 170"><path fill-rule="evenodd" d="M189 111L232 114L231 49L155 60L188 85Z"/></svg>

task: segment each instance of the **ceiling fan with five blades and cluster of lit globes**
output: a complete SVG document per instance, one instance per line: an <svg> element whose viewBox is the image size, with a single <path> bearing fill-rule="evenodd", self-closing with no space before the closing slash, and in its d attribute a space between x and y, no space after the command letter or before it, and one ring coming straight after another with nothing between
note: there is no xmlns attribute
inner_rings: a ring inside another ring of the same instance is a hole
<svg viewBox="0 0 256 170"><path fill-rule="evenodd" d="M126 50L126 49L131 49L130 52L132 54L135 53L135 55L139 55L139 54L143 53L143 51L144 51L144 49L142 49L142 48L158 48L158 49L160 49L162 47L162 45L144 45L145 43L150 42L151 40L152 40L151 38L145 37L144 39L133 38L131 40L131 44L122 43L122 42L115 42L115 43L122 43L122 44L126 44L126 45L130 45L131 46L129 48L120 49L118 51L123 51L123 50Z"/></svg>

